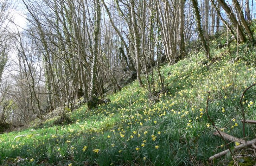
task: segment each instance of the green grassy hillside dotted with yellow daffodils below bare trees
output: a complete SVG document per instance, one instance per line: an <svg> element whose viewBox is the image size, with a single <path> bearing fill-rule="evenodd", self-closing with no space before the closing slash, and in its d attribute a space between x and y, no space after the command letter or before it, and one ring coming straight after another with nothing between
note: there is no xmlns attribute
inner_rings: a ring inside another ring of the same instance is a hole
<svg viewBox="0 0 256 166"><path fill-rule="evenodd" d="M73 123L0 135L2 165L208 165L208 158L227 149L205 113L210 91L209 114L216 126L243 137L239 100L244 89L256 81L255 49L218 48L225 41L213 40L213 62L202 52L190 53L161 73L168 87L157 100L137 81L108 98L111 103L93 111L82 106L68 112ZM250 62L250 63L249 63ZM155 74L156 75L156 74ZM158 79L157 77L155 79ZM160 86L156 84L159 91ZM256 120L256 87L244 98L246 119ZM248 140L256 127L246 124ZM230 143L233 147L235 143ZM225 160L224 160L225 159ZM227 165L229 156L213 165Z"/></svg>

